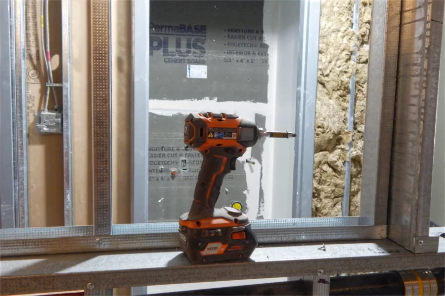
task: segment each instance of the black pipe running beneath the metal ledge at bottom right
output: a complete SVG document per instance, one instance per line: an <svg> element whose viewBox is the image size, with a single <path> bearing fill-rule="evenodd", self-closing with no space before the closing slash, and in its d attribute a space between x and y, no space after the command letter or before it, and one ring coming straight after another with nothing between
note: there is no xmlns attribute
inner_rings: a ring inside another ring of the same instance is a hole
<svg viewBox="0 0 445 296"><path fill-rule="evenodd" d="M432 270L438 285L438 295L445 295L445 268ZM403 281L395 271L335 276L330 278L329 295L404 295ZM250 296L250 295L309 295L308 287L303 280L268 283L228 288L204 289L164 293L158 295L221 295L221 296Z"/></svg>

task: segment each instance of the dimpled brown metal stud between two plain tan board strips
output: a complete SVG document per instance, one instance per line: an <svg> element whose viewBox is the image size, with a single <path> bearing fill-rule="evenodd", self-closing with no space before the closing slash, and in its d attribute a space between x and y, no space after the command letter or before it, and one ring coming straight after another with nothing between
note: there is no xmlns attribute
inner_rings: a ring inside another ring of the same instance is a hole
<svg viewBox="0 0 445 296"><path fill-rule="evenodd" d="M111 234L110 3L91 1L94 234Z"/></svg>

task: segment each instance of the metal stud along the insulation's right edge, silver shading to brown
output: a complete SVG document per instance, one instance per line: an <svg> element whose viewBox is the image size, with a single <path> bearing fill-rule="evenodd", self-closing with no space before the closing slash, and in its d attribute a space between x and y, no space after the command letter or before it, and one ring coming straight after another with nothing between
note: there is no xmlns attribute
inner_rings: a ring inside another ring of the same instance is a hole
<svg viewBox="0 0 445 296"><path fill-rule="evenodd" d="M374 225L388 212L400 9L400 0L372 2L360 217Z"/></svg>

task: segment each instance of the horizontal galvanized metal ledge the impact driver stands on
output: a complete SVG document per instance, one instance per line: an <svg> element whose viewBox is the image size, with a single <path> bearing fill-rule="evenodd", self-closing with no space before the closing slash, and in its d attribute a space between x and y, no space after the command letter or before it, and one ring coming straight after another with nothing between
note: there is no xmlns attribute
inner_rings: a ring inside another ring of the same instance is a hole
<svg viewBox="0 0 445 296"><path fill-rule="evenodd" d="M266 245L250 260L191 264L177 250L45 255L0 259L1 294L29 294L94 289L230 281L385 270L443 267L445 239L440 252L413 254L383 239L304 245ZM205 275L205 276L203 276Z"/></svg>

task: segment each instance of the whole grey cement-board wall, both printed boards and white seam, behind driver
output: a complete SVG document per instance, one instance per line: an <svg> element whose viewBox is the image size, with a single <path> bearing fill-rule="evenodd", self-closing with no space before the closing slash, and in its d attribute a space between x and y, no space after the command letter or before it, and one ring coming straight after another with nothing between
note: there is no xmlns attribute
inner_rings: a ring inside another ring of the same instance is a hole
<svg viewBox="0 0 445 296"><path fill-rule="evenodd" d="M255 112L263 108L257 104L267 103L263 4L150 2L150 221L177 220L190 209L202 156L184 148L184 118L189 112L236 112L265 126L264 113ZM196 101L212 109L201 110ZM239 108L231 102L246 105ZM225 177L217 207L236 200L249 217L262 218L261 143L238 159L236 170ZM246 163L249 154L255 165Z"/></svg>

